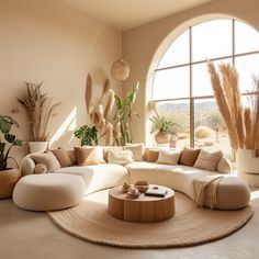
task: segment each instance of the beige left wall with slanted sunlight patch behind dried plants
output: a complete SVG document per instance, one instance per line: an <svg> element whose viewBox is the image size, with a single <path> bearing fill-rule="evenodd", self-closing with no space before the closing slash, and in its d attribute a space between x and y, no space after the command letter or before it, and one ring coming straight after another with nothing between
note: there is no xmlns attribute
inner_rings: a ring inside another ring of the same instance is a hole
<svg viewBox="0 0 259 259"><path fill-rule="evenodd" d="M24 81L44 81L43 89L60 101L49 133L54 146L74 146L76 126L87 122L85 82L93 78L94 92L110 77L111 64L121 56L121 33L55 0L0 1L0 113L21 125L16 135L27 139L27 119L18 103ZM115 91L120 88L112 81ZM98 94L95 94L97 97ZM19 113L11 110L18 108ZM26 147L15 148L21 157Z"/></svg>

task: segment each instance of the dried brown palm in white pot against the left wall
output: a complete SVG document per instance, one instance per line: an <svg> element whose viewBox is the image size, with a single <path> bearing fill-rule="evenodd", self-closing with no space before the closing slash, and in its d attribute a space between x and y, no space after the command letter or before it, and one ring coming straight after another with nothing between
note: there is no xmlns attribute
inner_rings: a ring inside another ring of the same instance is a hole
<svg viewBox="0 0 259 259"><path fill-rule="evenodd" d="M53 103L53 99L42 92L42 83L25 82L26 94L24 98L18 99L29 115L31 153L46 150L49 140L47 126L50 117L56 115L56 108L60 104L59 102Z"/></svg>

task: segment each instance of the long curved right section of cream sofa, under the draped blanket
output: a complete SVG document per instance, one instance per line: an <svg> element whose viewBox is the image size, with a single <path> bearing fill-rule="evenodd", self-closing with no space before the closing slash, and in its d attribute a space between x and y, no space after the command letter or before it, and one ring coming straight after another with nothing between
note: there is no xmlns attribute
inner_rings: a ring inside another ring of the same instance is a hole
<svg viewBox="0 0 259 259"><path fill-rule="evenodd" d="M216 209L237 210L245 207L250 201L247 184L234 174L221 174L182 165L162 165L154 162L132 162L126 166L131 182L148 181L183 192L191 199L193 195L193 180L213 174L224 176L217 188Z"/></svg>

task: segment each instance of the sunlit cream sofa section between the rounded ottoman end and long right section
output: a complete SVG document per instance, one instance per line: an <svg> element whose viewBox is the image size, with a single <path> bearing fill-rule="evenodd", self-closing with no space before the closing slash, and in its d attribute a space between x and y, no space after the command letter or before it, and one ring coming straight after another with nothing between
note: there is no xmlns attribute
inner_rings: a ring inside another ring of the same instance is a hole
<svg viewBox="0 0 259 259"><path fill-rule="evenodd" d="M122 184L127 181L128 176L125 167L115 164L66 167L56 172L81 176L86 184L85 194Z"/></svg>

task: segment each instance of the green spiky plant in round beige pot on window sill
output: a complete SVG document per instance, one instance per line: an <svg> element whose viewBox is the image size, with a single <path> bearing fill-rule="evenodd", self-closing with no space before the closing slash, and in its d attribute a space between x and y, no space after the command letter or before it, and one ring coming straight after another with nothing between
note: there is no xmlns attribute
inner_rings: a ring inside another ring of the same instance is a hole
<svg viewBox="0 0 259 259"><path fill-rule="evenodd" d="M155 114L149 117L153 122L150 133L156 133L155 140L157 144L168 144L170 139L177 138L177 132L180 126L168 120L166 116L159 115L159 113L154 110Z"/></svg>

